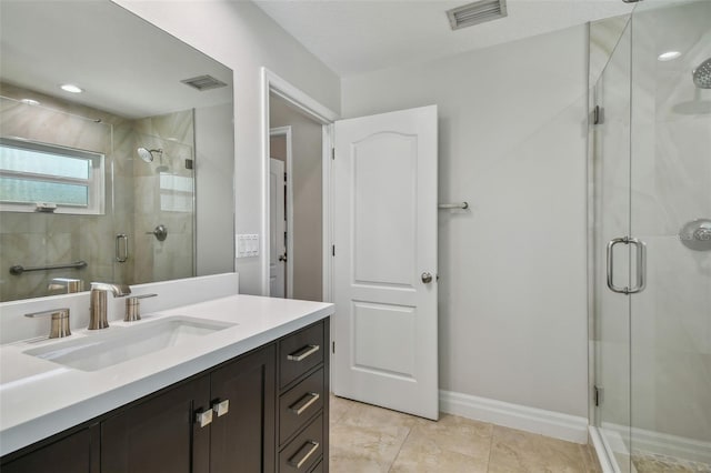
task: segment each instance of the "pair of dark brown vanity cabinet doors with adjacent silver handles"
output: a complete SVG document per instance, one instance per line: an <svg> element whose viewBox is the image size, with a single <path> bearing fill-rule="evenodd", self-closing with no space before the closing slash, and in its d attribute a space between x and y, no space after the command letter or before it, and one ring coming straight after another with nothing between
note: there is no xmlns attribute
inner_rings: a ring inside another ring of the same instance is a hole
<svg viewBox="0 0 711 473"><path fill-rule="evenodd" d="M101 473L274 470L273 344L101 422Z"/></svg>

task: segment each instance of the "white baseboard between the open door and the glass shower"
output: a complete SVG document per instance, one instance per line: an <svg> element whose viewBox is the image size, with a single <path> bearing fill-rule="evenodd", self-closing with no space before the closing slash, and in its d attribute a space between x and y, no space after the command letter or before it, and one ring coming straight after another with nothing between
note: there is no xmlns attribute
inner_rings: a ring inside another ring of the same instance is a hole
<svg viewBox="0 0 711 473"><path fill-rule="evenodd" d="M569 442L588 443L587 417L451 391L440 391L440 411Z"/></svg>

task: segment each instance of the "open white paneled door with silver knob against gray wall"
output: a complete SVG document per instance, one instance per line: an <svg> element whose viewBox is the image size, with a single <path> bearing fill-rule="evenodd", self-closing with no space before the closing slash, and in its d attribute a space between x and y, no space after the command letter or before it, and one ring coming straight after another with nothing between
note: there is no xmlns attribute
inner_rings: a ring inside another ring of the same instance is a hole
<svg viewBox="0 0 711 473"><path fill-rule="evenodd" d="M334 130L333 391L437 420L437 107Z"/></svg>

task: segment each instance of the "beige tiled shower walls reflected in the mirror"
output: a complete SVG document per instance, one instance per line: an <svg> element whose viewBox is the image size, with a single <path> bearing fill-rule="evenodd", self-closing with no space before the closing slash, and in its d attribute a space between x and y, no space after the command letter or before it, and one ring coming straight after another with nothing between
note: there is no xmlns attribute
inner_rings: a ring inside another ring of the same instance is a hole
<svg viewBox="0 0 711 473"><path fill-rule="evenodd" d="M102 153L106 205L100 215L0 212L0 301L49 295L53 278L136 284L193 274L194 188L192 110L128 120L0 84L0 133ZM41 105L21 102L31 97ZM138 147L162 150L151 163ZM188 161L189 162L189 161ZM189 165L188 165L189 167ZM178 202L178 203L177 203ZM157 225L169 229L158 241ZM127 234L129 258L116 262L116 236ZM86 261L84 269L10 274L11 265Z"/></svg>

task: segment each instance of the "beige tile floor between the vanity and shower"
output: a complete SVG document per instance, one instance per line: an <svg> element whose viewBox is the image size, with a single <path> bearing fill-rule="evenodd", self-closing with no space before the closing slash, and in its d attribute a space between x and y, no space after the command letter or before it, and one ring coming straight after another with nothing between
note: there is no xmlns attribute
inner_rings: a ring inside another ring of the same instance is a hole
<svg viewBox="0 0 711 473"><path fill-rule="evenodd" d="M332 473L599 473L588 445L443 414L439 422L331 396Z"/></svg>

